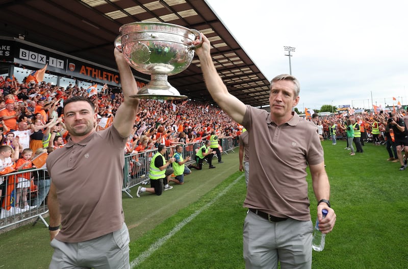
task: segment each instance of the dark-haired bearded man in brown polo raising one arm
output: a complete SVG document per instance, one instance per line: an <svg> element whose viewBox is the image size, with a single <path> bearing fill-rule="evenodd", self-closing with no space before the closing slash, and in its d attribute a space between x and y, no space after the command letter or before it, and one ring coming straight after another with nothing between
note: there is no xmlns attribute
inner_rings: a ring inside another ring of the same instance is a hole
<svg viewBox="0 0 408 269"><path fill-rule="evenodd" d="M129 268L129 232L122 210L123 148L139 100L132 71L115 49L124 101L113 125L96 132L94 104L82 96L64 102L70 139L48 156L49 268ZM107 158L109 156L109 158Z"/></svg>

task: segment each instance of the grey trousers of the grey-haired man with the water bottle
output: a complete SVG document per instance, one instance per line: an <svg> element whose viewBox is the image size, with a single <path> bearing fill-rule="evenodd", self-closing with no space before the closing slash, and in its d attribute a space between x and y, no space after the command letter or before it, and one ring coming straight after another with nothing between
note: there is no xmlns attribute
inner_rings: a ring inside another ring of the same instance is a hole
<svg viewBox="0 0 408 269"><path fill-rule="evenodd" d="M244 222L245 268L310 269L312 221L269 222L249 211Z"/></svg>

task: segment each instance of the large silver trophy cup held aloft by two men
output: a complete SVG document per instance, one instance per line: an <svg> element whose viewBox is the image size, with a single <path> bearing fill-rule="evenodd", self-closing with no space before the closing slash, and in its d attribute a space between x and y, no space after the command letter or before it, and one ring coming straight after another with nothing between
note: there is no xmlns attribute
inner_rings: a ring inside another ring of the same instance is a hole
<svg viewBox="0 0 408 269"><path fill-rule="evenodd" d="M135 70L150 75L150 82L131 95L141 99L186 99L167 81L189 67L194 57L192 45L201 42L197 30L163 22L132 22L119 28L115 47L123 53L127 63Z"/></svg>

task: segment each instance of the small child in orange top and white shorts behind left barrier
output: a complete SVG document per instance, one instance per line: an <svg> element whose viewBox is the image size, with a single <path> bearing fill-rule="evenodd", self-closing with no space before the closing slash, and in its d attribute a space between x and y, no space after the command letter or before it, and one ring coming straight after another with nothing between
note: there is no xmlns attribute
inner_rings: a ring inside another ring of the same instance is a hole
<svg viewBox="0 0 408 269"><path fill-rule="evenodd" d="M35 165L33 165L33 163L31 162L32 156L32 149L24 149L21 153L21 158L16 162L16 169L23 170L32 167L35 168ZM22 211L27 211L35 208L36 206L30 206L27 203L27 191L31 185L31 172L19 174L17 179L18 183L16 186L16 208L21 208L21 205L23 206Z"/></svg>

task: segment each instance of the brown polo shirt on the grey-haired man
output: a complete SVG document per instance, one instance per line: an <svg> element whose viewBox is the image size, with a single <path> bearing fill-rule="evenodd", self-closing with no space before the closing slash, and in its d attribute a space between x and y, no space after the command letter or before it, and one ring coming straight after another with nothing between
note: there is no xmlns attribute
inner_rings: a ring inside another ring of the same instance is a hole
<svg viewBox="0 0 408 269"><path fill-rule="evenodd" d="M323 162L316 126L296 113L287 123L277 126L270 113L248 105L242 125L248 130L250 145L244 207L309 221L306 167L308 163Z"/></svg>

